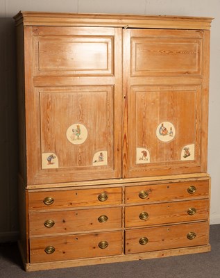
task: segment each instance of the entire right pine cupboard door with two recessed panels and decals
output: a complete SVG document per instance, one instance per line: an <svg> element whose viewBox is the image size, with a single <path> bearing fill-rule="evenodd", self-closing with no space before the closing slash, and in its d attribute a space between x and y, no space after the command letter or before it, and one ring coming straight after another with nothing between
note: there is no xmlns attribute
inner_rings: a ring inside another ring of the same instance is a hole
<svg viewBox="0 0 220 278"><path fill-rule="evenodd" d="M123 177L205 172L209 32L123 35Z"/></svg>

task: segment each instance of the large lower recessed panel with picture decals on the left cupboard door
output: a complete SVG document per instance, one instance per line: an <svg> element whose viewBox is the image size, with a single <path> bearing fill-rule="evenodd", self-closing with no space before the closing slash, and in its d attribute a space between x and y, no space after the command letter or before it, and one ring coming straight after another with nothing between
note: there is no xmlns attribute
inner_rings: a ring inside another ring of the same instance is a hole
<svg viewBox="0 0 220 278"><path fill-rule="evenodd" d="M113 86L35 88L35 94L39 173L51 172L51 180L62 172L87 180L114 170Z"/></svg>

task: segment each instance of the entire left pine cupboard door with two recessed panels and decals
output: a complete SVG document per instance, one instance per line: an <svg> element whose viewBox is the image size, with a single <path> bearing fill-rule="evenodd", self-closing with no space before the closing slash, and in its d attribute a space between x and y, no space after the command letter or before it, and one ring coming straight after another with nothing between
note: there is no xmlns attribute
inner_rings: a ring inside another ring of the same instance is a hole
<svg viewBox="0 0 220 278"><path fill-rule="evenodd" d="M121 30L30 27L26 41L28 183L121 177Z"/></svg>

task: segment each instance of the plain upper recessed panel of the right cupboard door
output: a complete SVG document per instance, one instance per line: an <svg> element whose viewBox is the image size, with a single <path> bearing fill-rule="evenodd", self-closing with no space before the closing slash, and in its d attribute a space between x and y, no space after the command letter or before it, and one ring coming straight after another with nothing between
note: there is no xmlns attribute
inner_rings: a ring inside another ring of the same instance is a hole
<svg viewBox="0 0 220 278"><path fill-rule="evenodd" d="M201 35L178 31L174 38L174 33L131 31L131 76L201 74Z"/></svg>

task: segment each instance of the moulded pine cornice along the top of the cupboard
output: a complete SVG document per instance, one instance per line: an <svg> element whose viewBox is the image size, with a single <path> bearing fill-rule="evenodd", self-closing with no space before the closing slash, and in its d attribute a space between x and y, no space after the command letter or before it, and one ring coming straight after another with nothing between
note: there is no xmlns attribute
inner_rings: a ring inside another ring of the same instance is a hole
<svg viewBox="0 0 220 278"><path fill-rule="evenodd" d="M14 17L24 26L107 26L121 28L178 28L209 30L212 17L167 15L111 15L88 13L37 13L20 11Z"/></svg>

